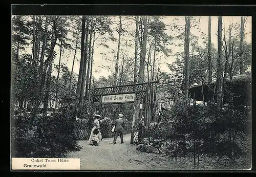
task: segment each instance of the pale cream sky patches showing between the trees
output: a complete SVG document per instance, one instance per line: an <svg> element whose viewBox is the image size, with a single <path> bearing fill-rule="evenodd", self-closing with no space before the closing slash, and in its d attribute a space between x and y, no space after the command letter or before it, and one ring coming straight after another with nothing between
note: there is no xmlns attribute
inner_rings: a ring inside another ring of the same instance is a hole
<svg viewBox="0 0 256 177"><path fill-rule="evenodd" d="M127 30L129 34L135 33L136 26L135 22L130 19L125 19L128 16L122 16L123 18L123 28ZM112 29L117 28L118 26L118 16L111 16L113 25ZM196 28L190 29L190 34L193 34L195 36L198 36L198 45L202 48L206 48L203 41L207 40L208 38L208 16L193 16L195 19L194 23L197 24ZM174 24L180 26L180 28L185 27L185 20L184 16L161 16L161 20L166 25L166 33L170 36L177 36L179 35L177 30L172 30L172 26ZM227 31L228 26L232 23L240 23L241 16L223 16L223 30ZM217 29L218 29L218 17L212 16L211 17L211 42L213 47L217 48ZM183 32L180 30L180 33ZM121 36L123 40L121 40L121 48L122 45L124 45L125 40L131 40L131 47L126 49L127 57L133 57L135 53L135 47L134 47L134 36L132 35L124 34ZM201 35L202 34L202 35ZM224 33L223 33L224 34ZM69 34L70 35L70 34ZM114 36L118 38L117 31L114 30ZM245 41L248 43L251 43L251 16L247 17L247 23L245 28ZM99 43L99 42L98 42ZM157 55L157 58L159 59L158 62L160 62L160 70L165 72L170 72L166 63L172 63L176 60L175 53L176 52L182 52L184 51L184 41L183 40L173 40L172 45L168 46L168 49L171 49L172 52L168 57L164 56L163 54ZM71 44L73 47L75 47L75 43ZM103 46L95 46L94 51L94 63L93 63L93 77L98 79L100 76L108 76L111 74L111 71L108 71L106 69L106 66L109 66L110 68L113 68L113 64L111 64L110 60L115 60L116 52L117 52L117 41L113 42L109 40L106 42L106 45L109 46L109 48L103 47ZM179 46L180 45L180 46ZM59 46L55 47L55 51L57 52L56 58L59 57ZM113 53L111 53L111 51ZM27 49L27 53L31 53L31 49ZM72 62L74 57L74 50L65 50L62 52L62 63L67 64L67 67L71 71L72 68ZM76 61L74 64L74 73L79 73L79 60L80 60L80 50L77 50L76 53ZM54 60L55 64L58 63L58 60ZM113 61L114 63L114 61ZM52 75L57 75L56 71L52 73Z"/></svg>

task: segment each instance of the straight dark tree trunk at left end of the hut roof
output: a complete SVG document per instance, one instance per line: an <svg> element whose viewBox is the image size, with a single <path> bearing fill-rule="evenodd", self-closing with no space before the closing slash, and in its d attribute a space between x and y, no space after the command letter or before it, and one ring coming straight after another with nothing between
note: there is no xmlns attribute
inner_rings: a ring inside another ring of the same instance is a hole
<svg viewBox="0 0 256 177"><path fill-rule="evenodd" d="M185 71L185 100L188 100L189 89L189 35L190 35L190 16L185 17L185 58L184 58L184 71Z"/></svg>

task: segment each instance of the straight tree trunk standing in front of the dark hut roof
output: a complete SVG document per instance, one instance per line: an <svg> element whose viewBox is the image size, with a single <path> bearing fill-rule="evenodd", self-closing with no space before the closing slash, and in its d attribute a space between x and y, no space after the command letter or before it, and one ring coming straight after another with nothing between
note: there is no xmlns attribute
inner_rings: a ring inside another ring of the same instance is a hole
<svg viewBox="0 0 256 177"><path fill-rule="evenodd" d="M223 97L222 97L222 16L219 16L218 19L218 56L217 56L217 81L216 81L216 93L217 93L217 105L222 106Z"/></svg>

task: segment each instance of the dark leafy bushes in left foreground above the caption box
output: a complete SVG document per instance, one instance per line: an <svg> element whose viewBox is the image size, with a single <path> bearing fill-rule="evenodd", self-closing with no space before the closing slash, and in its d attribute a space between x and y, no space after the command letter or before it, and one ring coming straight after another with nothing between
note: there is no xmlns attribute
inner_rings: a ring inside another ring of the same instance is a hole
<svg viewBox="0 0 256 177"><path fill-rule="evenodd" d="M69 114L38 115L29 127L30 113L16 113L12 117L12 157L64 157L78 151L75 123Z"/></svg>

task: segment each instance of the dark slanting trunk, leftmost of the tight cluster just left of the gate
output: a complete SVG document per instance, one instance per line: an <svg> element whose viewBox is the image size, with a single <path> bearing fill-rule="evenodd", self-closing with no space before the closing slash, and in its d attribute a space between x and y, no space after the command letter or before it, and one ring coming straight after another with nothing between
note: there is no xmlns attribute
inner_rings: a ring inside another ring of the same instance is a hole
<svg viewBox="0 0 256 177"><path fill-rule="evenodd" d="M81 59L80 59L80 67L79 67L79 75L78 75L78 82L76 87L76 97L75 97L75 104L74 104L74 118L77 117L77 111L79 107L79 98L82 86L82 75L83 75L83 60L84 60L84 37L86 35L86 16L82 16L82 31L81 31Z"/></svg>

